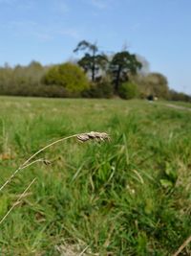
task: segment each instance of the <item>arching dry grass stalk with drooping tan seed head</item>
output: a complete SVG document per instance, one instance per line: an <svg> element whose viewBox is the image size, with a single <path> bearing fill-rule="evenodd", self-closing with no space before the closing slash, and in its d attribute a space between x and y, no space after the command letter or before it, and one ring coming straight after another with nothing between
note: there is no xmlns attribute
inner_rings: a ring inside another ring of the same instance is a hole
<svg viewBox="0 0 191 256"><path fill-rule="evenodd" d="M61 139L58 139L56 141L54 141L53 143L45 146L44 148L40 149L39 151L36 151L35 153L32 154L32 156L30 156L30 158L28 158L21 166L18 167L18 169L16 169L14 171L14 173L7 179L7 181L0 187L0 192L3 190L3 188L8 185L12 178L17 175L17 173L29 166L31 166L32 164L36 163L36 162L43 162L44 164L50 164L51 162L45 159L37 159L32 161L32 159L39 154L42 151L47 150L48 148L52 147L53 145L63 142L65 140L71 139L71 138L76 138L78 141L80 142L86 142L88 140L95 140L95 141L105 141L105 140L110 140L110 136L105 133L105 132L97 132L97 131L91 131L91 132L86 132L86 133L78 133L78 134L74 134L68 137L64 137ZM32 162L31 162L32 161Z"/></svg>

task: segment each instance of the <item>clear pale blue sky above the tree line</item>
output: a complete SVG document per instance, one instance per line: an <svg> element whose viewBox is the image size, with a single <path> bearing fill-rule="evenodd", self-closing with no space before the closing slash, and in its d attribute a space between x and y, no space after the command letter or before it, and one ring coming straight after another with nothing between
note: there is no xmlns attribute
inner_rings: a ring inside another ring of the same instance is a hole
<svg viewBox="0 0 191 256"><path fill-rule="evenodd" d="M78 58L85 39L109 55L126 47L191 94L190 13L190 0L0 0L0 65Z"/></svg>

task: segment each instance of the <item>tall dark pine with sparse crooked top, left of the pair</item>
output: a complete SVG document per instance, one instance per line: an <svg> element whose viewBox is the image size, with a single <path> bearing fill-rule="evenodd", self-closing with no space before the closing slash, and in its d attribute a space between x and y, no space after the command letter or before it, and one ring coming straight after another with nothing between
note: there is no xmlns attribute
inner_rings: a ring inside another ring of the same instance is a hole
<svg viewBox="0 0 191 256"><path fill-rule="evenodd" d="M86 40L82 40L77 44L74 53L78 51L85 51L85 55L80 58L77 63L86 73L90 72L92 81L95 81L96 74L100 69L103 70L106 67L108 62L107 56L99 53L96 43L92 44Z"/></svg>

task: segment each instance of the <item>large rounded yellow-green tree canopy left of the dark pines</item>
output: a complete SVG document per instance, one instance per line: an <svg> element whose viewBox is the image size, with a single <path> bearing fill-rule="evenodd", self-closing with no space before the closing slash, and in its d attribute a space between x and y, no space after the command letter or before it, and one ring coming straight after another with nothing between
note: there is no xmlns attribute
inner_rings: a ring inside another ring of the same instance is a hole
<svg viewBox="0 0 191 256"><path fill-rule="evenodd" d="M70 62L51 67L43 82L63 86L69 93L80 93L89 87L89 81L81 68Z"/></svg>

